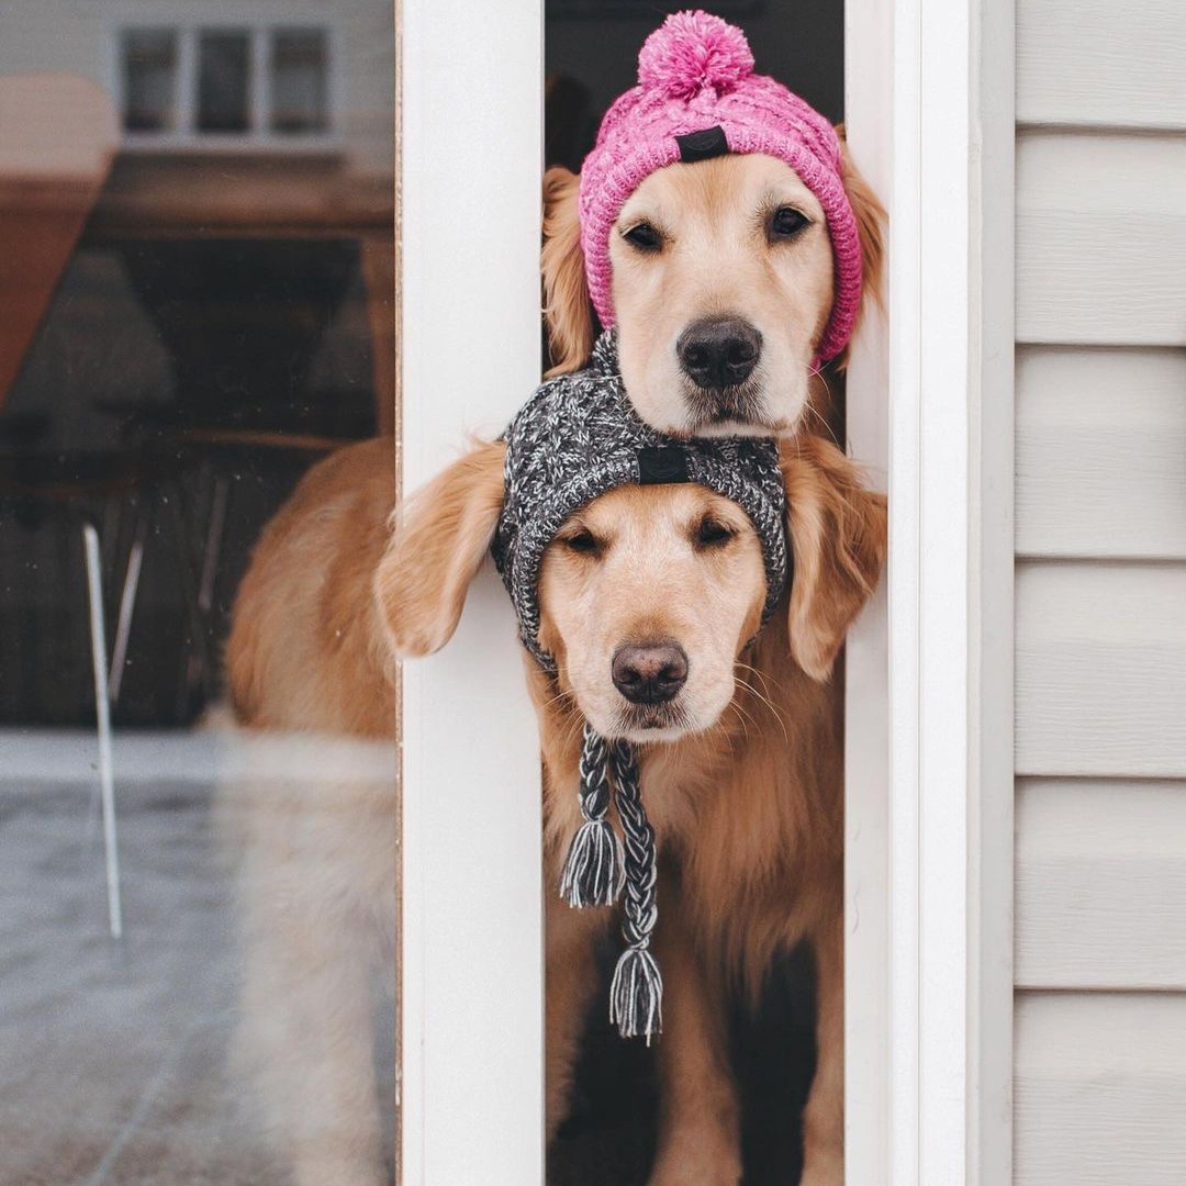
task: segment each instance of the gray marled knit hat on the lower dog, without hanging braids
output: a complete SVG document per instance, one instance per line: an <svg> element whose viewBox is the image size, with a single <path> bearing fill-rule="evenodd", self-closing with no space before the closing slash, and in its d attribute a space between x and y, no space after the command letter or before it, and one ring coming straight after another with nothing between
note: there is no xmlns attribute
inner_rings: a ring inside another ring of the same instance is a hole
<svg viewBox="0 0 1186 1186"><path fill-rule="evenodd" d="M495 563L518 616L523 645L548 671L540 646L536 581L543 551L565 519L599 495L638 482L638 451L677 449L688 477L737 503L751 518L766 561L769 617L786 587L786 493L778 446L764 436L665 436L638 419L618 371L617 336L601 334L587 370L544 383L504 434L506 497L495 533Z"/></svg>

